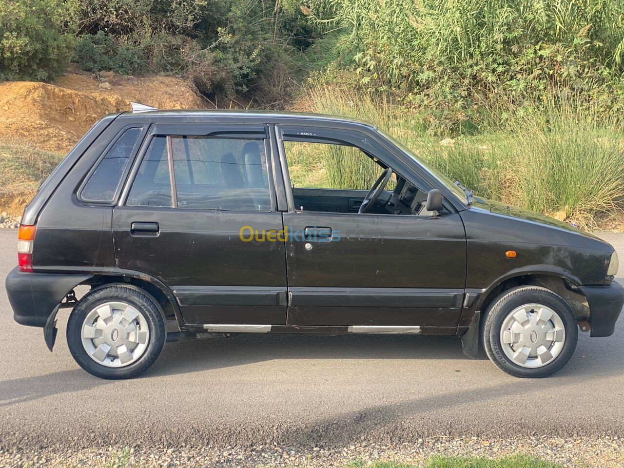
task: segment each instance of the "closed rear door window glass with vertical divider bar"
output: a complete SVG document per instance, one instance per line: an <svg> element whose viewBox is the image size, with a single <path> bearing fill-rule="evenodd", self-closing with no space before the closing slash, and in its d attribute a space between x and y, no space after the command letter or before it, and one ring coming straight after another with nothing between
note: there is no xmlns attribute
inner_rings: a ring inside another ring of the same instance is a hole
<svg viewBox="0 0 624 468"><path fill-rule="evenodd" d="M178 208L271 210L264 141L203 136L155 137L130 190L129 205L173 206L167 139Z"/></svg>

